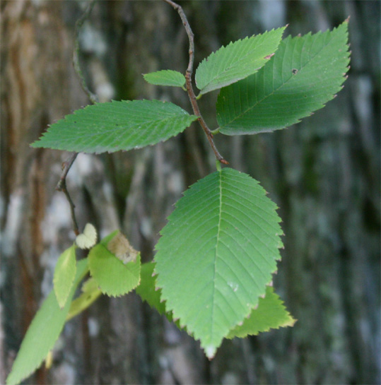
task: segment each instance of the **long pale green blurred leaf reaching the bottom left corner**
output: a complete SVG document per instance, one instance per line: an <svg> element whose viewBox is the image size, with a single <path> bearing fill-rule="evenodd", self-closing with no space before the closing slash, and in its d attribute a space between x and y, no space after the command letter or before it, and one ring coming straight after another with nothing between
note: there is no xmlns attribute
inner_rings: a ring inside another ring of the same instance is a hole
<svg viewBox="0 0 381 385"><path fill-rule="evenodd" d="M87 271L87 259L78 261L75 284L71 288L69 299L73 297L78 283ZM69 307L68 300L64 309L60 309L54 291L50 292L26 332L6 384L19 384L41 365L64 328Z"/></svg>

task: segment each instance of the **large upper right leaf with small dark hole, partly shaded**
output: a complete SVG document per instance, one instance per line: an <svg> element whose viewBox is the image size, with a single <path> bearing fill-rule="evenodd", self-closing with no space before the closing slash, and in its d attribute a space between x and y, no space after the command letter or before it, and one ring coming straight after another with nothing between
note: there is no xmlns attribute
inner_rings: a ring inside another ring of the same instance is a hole
<svg viewBox="0 0 381 385"><path fill-rule="evenodd" d="M287 37L261 70L221 90L219 131L226 135L283 129L324 107L348 71L348 23L332 32Z"/></svg>

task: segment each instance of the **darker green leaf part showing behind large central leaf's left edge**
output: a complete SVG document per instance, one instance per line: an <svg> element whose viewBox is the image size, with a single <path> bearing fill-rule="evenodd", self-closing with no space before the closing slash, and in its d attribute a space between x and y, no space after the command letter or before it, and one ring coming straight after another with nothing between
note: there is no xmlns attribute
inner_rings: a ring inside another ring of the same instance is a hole
<svg viewBox="0 0 381 385"><path fill-rule="evenodd" d="M140 295L151 307L160 314L165 314L165 303L161 302L161 290L155 290L156 276L153 276L155 263L143 263L141 265L141 280L136 288L136 294Z"/></svg>

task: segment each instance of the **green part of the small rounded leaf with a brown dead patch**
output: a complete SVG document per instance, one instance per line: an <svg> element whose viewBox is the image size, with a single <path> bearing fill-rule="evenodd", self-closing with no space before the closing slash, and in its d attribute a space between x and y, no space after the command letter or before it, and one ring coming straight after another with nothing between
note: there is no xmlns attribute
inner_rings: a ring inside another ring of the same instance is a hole
<svg viewBox="0 0 381 385"><path fill-rule="evenodd" d="M102 293L112 297L127 294L140 282L140 253L136 261L124 264L107 249L107 244L118 231L102 239L88 254L90 274Z"/></svg>

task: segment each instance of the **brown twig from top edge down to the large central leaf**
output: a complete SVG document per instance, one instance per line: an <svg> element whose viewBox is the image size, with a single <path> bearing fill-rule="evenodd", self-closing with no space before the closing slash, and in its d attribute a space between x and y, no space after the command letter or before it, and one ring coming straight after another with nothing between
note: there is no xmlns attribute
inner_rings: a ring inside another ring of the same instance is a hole
<svg viewBox="0 0 381 385"><path fill-rule="evenodd" d="M165 3L170 4L170 6L175 8L177 13L179 13L180 18L182 20L182 24L184 25L184 28L187 31L187 35L189 38L189 64L188 64L187 71L185 71L185 79L186 79L187 92L188 92L189 100L192 105L193 112L197 116L197 120L199 121L201 128L204 130L206 134L206 138L208 138L209 144L211 145L211 148L213 149L214 155L216 155L217 160L223 163L224 165L228 165L229 162L223 158L223 156L218 152L216 145L214 144L213 134L211 133L211 130L206 124L204 118L201 116L199 105L197 105L196 95L194 95L194 90L192 86L192 73L193 73L193 64L194 64L194 34L192 32L192 29L190 28L187 16L185 16L184 11L182 10L182 7L179 4L176 4L172 0L163 0L163 1L165 1Z"/></svg>

